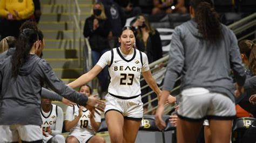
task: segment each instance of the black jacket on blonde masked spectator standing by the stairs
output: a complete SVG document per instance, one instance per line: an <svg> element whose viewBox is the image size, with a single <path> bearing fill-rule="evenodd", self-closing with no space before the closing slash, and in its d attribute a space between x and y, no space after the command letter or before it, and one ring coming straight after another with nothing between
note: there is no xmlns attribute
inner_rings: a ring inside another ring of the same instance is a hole
<svg viewBox="0 0 256 143"><path fill-rule="evenodd" d="M98 19L99 27L96 30L93 30L94 19L95 16L86 18L84 24L84 37L89 37L92 51L100 52L110 48L107 36L109 35L111 24L108 20Z"/></svg>

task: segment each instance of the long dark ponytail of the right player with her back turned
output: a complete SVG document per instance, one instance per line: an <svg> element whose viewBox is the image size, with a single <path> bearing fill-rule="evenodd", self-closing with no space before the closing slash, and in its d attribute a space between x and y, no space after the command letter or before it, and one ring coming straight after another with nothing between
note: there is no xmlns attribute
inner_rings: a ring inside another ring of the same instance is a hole
<svg viewBox="0 0 256 143"><path fill-rule="evenodd" d="M190 5L195 11L198 32L206 40L218 40L221 37L221 24L219 15L213 8L213 3L210 0L191 0Z"/></svg>

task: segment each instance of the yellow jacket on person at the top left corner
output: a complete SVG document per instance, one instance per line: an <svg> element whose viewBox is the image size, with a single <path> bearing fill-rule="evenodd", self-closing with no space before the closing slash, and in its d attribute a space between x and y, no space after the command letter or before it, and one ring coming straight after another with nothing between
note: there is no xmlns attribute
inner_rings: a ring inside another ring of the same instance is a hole
<svg viewBox="0 0 256 143"><path fill-rule="evenodd" d="M18 17L14 12L18 12ZM0 0L0 17L7 18L11 13L17 20L27 19L33 15L34 4L32 0Z"/></svg>

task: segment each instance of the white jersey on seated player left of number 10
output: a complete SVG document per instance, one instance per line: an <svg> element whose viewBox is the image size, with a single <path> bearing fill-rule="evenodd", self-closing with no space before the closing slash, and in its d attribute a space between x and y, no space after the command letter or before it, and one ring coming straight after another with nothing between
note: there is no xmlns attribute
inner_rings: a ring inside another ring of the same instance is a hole
<svg viewBox="0 0 256 143"><path fill-rule="evenodd" d="M52 105L52 108L51 108L50 114L48 116L45 116L47 113L45 113L43 111L43 109L41 108L41 117L42 117L42 121L43 121L43 124L41 127L44 132L47 132L47 129L49 127L51 127L52 130L55 130L56 120L57 120L57 116L58 116L58 113L57 113L58 106L55 104L51 104L51 105Z"/></svg>

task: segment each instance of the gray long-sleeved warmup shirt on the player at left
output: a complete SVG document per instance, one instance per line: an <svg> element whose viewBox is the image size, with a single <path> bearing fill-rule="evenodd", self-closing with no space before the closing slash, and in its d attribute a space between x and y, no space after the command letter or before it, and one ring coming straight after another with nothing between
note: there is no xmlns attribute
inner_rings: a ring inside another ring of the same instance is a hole
<svg viewBox="0 0 256 143"><path fill-rule="evenodd" d="M41 125L43 83L70 101L86 105L87 97L60 81L49 64L37 55L29 55L15 80L11 77L11 58L0 62L0 125Z"/></svg>

